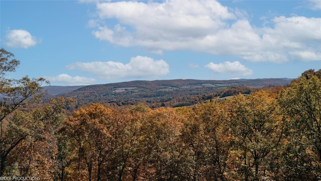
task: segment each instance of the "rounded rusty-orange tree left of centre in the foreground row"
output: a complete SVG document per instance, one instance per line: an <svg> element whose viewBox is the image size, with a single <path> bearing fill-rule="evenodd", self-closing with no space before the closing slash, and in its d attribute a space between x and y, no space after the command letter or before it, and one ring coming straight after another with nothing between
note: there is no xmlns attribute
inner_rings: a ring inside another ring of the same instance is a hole
<svg viewBox="0 0 321 181"><path fill-rule="evenodd" d="M114 137L118 131L117 116L113 110L93 104L74 111L61 128L71 138L79 161L84 161L88 172L85 179L102 179L102 167L109 161L107 158L112 158L114 148L117 147ZM81 170L80 166L79 163L78 170Z"/></svg>

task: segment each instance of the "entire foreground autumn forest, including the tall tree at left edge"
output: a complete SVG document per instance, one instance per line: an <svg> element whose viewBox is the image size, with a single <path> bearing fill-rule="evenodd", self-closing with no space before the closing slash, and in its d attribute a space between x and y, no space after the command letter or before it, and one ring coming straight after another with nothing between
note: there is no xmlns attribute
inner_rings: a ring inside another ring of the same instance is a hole
<svg viewBox="0 0 321 181"><path fill-rule="evenodd" d="M321 69L289 85L179 108L43 103L44 78L7 78L1 49L0 178L320 180Z"/></svg>

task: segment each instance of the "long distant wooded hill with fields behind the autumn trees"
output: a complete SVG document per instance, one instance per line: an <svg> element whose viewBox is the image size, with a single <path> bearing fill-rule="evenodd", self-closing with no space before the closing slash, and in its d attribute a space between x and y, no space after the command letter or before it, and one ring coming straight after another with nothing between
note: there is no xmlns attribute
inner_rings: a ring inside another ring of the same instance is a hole
<svg viewBox="0 0 321 181"><path fill-rule="evenodd" d="M260 88L287 85L291 80L287 78L135 80L87 86L46 86L44 88L48 91L50 97L73 98L77 100L78 106L88 103L101 103L117 107L142 102L151 107L178 107L212 99L215 93L227 87Z"/></svg>

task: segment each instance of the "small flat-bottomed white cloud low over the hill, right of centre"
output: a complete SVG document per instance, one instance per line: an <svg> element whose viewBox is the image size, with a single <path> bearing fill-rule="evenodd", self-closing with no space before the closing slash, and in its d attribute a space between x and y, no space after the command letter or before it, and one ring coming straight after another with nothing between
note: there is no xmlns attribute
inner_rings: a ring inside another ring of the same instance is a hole
<svg viewBox="0 0 321 181"><path fill-rule="evenodd" d="M246 68L238 61L226 61L219 64L211 62L205 65L205 67L211 69L214 73L219 74L231 74L234 76L248 76L253 74L253 71L251 69Z"/></svg>

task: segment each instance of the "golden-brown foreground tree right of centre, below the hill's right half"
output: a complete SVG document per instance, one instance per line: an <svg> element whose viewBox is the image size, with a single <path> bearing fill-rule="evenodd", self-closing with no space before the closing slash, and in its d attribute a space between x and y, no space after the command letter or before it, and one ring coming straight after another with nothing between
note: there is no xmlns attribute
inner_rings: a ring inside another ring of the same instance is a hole
<svg viewBox="0 0 321 181"><path fill-rule="evenodd" d="M233 145L224 103L217 100L192 107L182 137L193 153L194 179L226 180ZM187 150L188 150L187 148Z"/></svg>

